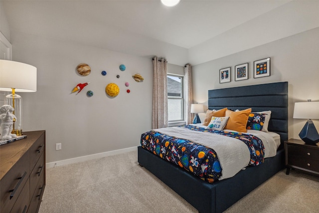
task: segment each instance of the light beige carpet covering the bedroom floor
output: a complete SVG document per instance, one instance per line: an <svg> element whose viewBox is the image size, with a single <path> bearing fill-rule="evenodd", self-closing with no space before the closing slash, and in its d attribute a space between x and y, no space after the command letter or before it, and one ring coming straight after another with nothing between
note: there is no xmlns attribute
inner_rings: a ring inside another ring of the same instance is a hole
<svg viewBox="0 0 319 213"><path fill-rule="evenodd" d="M277 173L226 213L318 213L319 178ZM39 213L197 213L140 167L137 152L47 169Z"/></svg>

